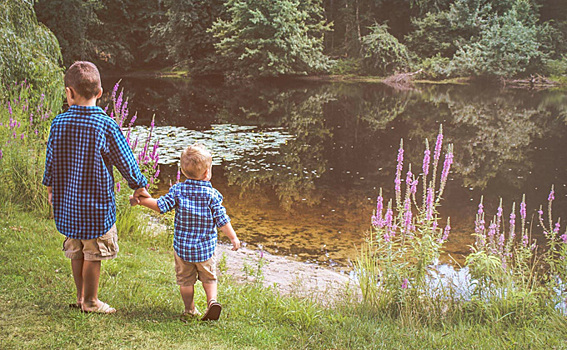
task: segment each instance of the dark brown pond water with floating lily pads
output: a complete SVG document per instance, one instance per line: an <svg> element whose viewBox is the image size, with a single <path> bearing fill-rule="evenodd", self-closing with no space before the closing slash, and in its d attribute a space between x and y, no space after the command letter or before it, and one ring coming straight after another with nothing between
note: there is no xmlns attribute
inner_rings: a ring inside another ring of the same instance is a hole
<svg viewBox="0 0 567 350"><path fill-rule="evenodd" d="M117 80L106 77L104 89ZM350 269L379 189L395 196L400 139L405 163L421 169L425 139L433 145L440 124L455 155L440 207L451 217L446 261L462 263L470 251L481 195L488 213L502 198L509 215L526 194L533 214L554 184L554 215L565 217L564 91L139 78L122 79L121 87L137 125L155 115L163 163L156 195L175 182L180 151L207 144L213 186L249 248Z"/></svg>

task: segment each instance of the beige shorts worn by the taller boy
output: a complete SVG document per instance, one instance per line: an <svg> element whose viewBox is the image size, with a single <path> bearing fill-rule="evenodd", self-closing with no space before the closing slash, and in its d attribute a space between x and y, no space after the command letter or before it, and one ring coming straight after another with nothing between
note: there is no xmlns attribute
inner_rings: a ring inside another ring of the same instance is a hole
<svg viewBox="0 0 567 350"><path fill-rule="evenodd" d="M118 233L116 225L104 235L93 239L65 238L65 256L72 260L101 261L116 258L118 254Z"/></svg>

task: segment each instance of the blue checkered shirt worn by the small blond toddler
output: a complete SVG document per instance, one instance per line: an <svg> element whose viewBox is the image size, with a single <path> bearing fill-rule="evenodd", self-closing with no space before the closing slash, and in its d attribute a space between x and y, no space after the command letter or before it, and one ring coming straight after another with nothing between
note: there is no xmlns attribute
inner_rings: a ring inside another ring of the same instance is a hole
<svg viewBox="0 0 567 350"><path fill-rule="evenodd" d="M217 245L217 227L230 218L222 205L222 195L209 181L188 179L173 185L157 200L163 214L175 209L173 248L189 262L210 259Z"/></svg>

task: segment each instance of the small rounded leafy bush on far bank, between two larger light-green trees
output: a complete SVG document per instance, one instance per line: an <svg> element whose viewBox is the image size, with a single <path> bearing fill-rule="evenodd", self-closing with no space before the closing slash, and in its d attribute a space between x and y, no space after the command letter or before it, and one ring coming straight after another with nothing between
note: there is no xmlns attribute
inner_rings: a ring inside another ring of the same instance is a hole
<svg viewBox="0 0 567 350"><path fill-rule="evenodd" d="M370 27L370 33L362 37L362 57L364 72L372 75L403 71L410 63L407 48L381 24Z"/></svg>

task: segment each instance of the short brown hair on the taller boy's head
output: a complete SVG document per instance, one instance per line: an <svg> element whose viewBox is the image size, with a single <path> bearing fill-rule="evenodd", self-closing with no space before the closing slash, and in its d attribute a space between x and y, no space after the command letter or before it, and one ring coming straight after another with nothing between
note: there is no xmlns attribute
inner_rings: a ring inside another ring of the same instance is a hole
<svg viewBox="0 0 567 350"><path fill-rule="evenodd" d="M65 87L70 87L84 98L91 99L102 89L100 73L94 63L77 61L65 72Z"/></svg>

